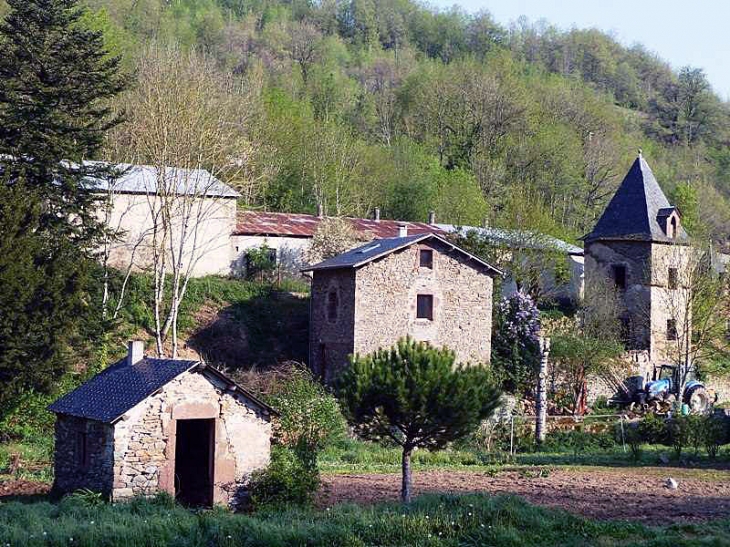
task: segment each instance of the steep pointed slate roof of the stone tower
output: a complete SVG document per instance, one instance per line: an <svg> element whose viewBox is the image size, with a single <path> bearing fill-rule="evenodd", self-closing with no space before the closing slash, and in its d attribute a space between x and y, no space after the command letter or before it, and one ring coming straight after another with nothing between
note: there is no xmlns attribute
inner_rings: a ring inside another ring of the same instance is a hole
<svg viewBox="0 0 730 547"><path fill-rule="evenodd" d="M639 155L629 169L603 215L584 236L585 241L596 239L627 239L635 241L677 242L689 238L679 227L677 237L671 239L662 230L658 218L671 213L672 206L654 178L649 164Z"/></svg>

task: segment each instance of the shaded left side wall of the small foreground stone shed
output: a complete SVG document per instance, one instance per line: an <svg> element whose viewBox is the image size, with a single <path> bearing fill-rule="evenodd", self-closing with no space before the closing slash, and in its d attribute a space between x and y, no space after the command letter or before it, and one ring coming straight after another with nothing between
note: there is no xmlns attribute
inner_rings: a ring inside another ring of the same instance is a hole
<svg viewBox="0 0 730 547"><path fill-rule="evenodd" d="M113 482L112 426L60 415L55 428L54 490L66 494L87 488L110 495Z"/></svg>

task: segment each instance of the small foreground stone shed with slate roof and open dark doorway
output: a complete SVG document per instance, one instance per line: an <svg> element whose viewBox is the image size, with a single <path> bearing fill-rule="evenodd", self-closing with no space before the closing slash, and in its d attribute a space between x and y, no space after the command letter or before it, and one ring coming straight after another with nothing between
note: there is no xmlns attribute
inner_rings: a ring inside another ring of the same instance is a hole
<svg viewBox="0 0 730 547"><path fill-rule="evenodd" d="M54 490L112 501L168 492L189 505L242 503L269 462L275 411L200 361L127 356L50 407Z"/></svg>

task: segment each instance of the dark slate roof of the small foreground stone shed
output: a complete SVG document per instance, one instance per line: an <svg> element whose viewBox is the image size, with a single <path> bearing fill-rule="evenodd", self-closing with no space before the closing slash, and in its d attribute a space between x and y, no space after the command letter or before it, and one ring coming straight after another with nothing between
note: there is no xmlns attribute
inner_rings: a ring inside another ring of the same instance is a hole
<svg viewBox="0 0 730 547"><path fill-rule="evenodd" d="M125 357L58 399L48 409L56 414L113 423L170 381L201 365L200 361L149 357L128 365ZM228 380L216 369L209 366L206 369ZM261 408L276 413L240 386L236 387Z"/></svg>

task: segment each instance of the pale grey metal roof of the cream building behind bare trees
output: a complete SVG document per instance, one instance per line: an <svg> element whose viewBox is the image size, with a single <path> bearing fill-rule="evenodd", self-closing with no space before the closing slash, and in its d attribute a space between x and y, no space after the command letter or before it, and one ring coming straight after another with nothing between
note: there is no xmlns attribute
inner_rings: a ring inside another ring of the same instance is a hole
<svg viewBox="0 0 730 547"><path fill-rule="evenodd" d="M92 162L88 162L91 164ZM151 165L130 165L120 163L111 165L121 176L108 179L88 178L88 188L92 191L107 192L110 184L114 192L127 194L155 194L160 182L159 170ZM240 194L224 184L205 169L182 169L166 167L164 185L167 191L179 195L198 195L207 197L237 198Z"/></svg>

